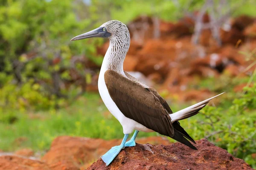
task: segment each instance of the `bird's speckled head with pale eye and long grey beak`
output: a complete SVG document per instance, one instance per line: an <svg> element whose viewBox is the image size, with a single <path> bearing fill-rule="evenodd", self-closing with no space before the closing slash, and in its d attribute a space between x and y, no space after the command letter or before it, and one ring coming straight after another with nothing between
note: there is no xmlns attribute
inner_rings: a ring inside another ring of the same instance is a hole
<svg viewBox="0 0 256 170"><path fill-rule="evenodd" d="M111 21L108 21L107 23L102 24L102 26L100 26L99 28L96 28L92 31L89 31L87 33L84 33L72 38L71 41L82 40L85 38L92 38L92 37L103 37L103 38L109 38L109 39L114 39L116 37L130 38L130 34L125 24L123 24L118 20L111 20Z"/></svg>

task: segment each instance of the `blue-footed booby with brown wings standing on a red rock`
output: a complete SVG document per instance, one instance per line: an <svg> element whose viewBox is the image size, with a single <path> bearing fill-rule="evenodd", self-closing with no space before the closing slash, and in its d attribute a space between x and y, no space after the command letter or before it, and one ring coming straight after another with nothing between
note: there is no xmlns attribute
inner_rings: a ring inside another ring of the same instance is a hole
<svg viewBox="0 0 256 170"><path fill-rule="evenodd" d="M130 47L130 33L125 24L111 20L99 28L73 37L71 41L93 37L110 40L100 69L98 88L104 104L120 122L124 133L121 144L101 156L106 166L111 164L123 148L136 145L135 139L139 131L157 132L197 150L193 145L196 144L195 141L180 126L179 121L198 114L211 99L225 92L173 113L166 100L154 88L123 70ZM133 136L126 142L128 135L134 130Z"/></svg>

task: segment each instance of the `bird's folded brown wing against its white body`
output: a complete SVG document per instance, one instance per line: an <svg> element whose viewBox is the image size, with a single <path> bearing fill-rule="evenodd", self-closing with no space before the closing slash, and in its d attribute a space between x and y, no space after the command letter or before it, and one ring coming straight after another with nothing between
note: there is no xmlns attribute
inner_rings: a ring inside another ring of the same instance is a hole
<svg viewBox="0 0 256 170"><path fill-rule="evenodd" d="M105 72L104 79L111 98L126 117L162 135L174 136L169 113L155 90L143 88L112 70Z"/></svg>

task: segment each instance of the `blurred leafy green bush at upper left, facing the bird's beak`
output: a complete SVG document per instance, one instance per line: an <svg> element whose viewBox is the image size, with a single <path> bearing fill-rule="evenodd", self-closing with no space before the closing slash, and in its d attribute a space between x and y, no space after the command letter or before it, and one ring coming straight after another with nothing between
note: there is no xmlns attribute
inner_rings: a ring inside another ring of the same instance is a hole
<svg viewBox="0 0 256 170"><path fill-rule="evenodd" d="M72 97L61 84L70 80L71 68L83 75L84 67L71 65L70 60L74 55L95 58L96 45L102 42L70 42L93 21L78 20L78 7L73 0L10 0L0 7L0 105L51 109L59 98ZM60 61L55 63L56 59ZM72 88L81 91L76 85Z"/></svg>

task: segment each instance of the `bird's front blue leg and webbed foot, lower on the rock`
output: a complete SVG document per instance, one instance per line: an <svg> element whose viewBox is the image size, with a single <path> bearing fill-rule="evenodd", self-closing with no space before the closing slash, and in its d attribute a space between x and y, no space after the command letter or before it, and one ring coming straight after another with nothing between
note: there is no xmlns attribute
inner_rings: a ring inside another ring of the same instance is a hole
<svg viewBox="0 0 256 170"><path fill-rule="evenodd" d="M106 166L108 166L113 161L113 159L118 155L118 153L123 148L125 148L125 142L128 136L129 134L125 134L124 139L122 140L122 143L119 146L112 147L107 153L101 156L101 159L106 163Z"/></svg>

